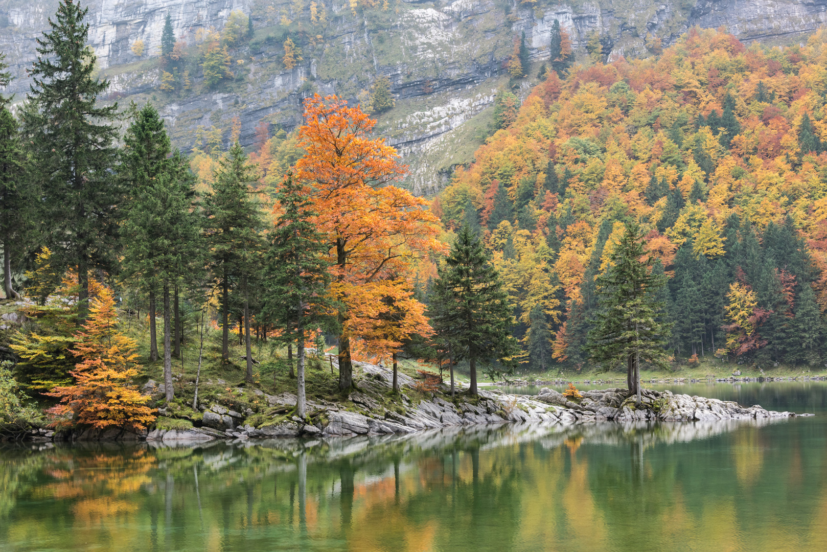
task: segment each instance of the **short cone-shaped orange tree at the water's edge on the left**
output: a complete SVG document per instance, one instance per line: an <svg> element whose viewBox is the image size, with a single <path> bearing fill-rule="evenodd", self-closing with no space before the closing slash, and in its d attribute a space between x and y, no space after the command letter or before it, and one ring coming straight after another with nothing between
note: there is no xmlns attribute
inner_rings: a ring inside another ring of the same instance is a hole
<svg viewBox="0 0 827 552"><path fill-rule="evenodd" d="M132 385L138 374L134 339L117 331L112 291L101 287L91 300L89 317L75 336L72 353L83 361L69 372L74 386L55 387L46 395L60 399L47 410L55 427L91 425L98 429L143 429L155 420L149 397Z"/></svg>

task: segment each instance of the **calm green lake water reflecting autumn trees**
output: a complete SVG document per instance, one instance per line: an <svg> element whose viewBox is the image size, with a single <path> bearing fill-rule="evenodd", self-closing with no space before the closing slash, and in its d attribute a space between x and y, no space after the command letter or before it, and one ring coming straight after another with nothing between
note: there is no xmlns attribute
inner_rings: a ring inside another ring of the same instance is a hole
<svg viewBox="0 0 827 552"><path fill-rule="evenodd" d="M815 416L0 444L0 550L827 550L827 385L673 387Z"/></svg>

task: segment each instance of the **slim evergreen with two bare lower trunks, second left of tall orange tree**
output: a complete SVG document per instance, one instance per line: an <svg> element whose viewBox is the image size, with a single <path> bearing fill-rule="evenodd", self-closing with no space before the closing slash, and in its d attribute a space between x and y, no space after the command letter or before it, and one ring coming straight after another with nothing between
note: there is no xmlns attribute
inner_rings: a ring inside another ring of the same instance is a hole
<svg viewBox="0 0 827 552"><path fill-rule="evenodd" d="M213 278L222 297L222 358L229 360L230 290L239 290L244 300L246 324L246 378L252 381L249 290L258 272L263 226L251 185L258 180L255 166L247 163L241 145L235 142L219 161L213 193L205 200L208 242Z"/></svg>

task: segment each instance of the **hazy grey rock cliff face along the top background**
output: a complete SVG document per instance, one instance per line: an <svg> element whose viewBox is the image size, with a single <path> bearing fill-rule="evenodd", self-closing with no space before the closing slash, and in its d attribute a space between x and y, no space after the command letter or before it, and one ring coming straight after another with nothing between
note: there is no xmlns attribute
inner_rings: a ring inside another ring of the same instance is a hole
<svg viewBox="0 0 827 552"><path fill-rule="evenodd" d="M294 13L289 0L84 2L89 41L103 76L112 81L112 98L151 100L185 150L194 146L198 127L214 125L227 139L233 118L241 122L242 144L250 146L261 121L287 130L299 124L301 101L309 94L335 93L356 102L376 75L388 76L397 105L379 117L377 130L411 166L406 185L419 194L439 190L453 167L471 161L496 90L506 86L504 60L523 31L535 62L548 58L554 20L571 35L577 55L585 55L586 41L597 31L606 59L614 60L651 55L655 38L667 46L695 25L725 26L742 41L778 43L800 41L827 22L827 0L541 0L533 7L493 0L433 6L405 0L393 12L364 9L356 16L347 2L323 0L317 5L327 12L325 25L310 22L305 4L303 12ZM18 100L31 82L26 68L36 57L35 39L57 5L56 0L0 0L0 50L17 77L8 92L17 93ZM153 56L166 15L176 38L194 45L203 32L220 30L232 11L252 14L256 28L250 45L232 52L232 85L204 89L193 74L189 93L158 90L160 70ZM283 11L293 21L291 32L323 39L300 44L304 60L292 70L281 63ZM145 46L141 58L131 51L138 40ZM536 81L537 69L523 93Z"/></svg>

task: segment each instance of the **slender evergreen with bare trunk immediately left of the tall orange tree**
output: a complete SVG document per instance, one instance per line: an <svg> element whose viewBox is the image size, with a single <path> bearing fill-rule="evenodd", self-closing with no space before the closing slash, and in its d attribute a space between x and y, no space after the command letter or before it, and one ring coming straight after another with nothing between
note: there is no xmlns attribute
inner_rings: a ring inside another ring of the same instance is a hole
<svg viewBox="0 0 827 552"><path fill-rule="evenodd" d="M284 329L284 338L298 344L298 392L296 415L304 418L304 340L308 328L329 324L327 300L327 246L310 217L313 216L308 190L288 175L279 185L275 199L281 214L270 233L266 252L265 310Z"/></svg>

